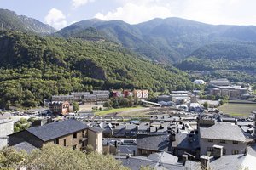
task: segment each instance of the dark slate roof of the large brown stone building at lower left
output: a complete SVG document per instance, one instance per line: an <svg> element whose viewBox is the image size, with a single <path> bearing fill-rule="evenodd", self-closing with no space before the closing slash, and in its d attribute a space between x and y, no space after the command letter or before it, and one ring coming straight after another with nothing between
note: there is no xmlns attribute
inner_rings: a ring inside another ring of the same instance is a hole
<svg viewBox="0 0 256 170"><path fill-rule="evenodd" d="M67 121L51 122L41 127L32 127L27 129L27 132L32 133L38 139L45 142L86 128L88 127L84 123L69 119Z"/></svg>

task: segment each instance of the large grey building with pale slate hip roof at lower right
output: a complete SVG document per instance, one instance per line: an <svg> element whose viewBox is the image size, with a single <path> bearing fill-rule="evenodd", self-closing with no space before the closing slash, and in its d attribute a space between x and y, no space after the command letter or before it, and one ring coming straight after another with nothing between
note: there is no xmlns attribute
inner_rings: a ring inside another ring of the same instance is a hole
<svg viewBox="0 0 256 170"><path fill-rule="evenodd" d="M246 137L240 127L230 122L213 122L212 126L200 127L201 156L212 155L213 145L223 146L224 155L244 154Z"/></svg>

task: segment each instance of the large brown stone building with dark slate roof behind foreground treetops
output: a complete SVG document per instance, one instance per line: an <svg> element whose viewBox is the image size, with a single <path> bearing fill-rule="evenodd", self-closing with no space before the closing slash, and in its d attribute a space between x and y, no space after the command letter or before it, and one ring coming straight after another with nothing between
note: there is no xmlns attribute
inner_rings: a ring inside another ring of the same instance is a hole
<svg viewBox="0 0 256 170"><path fill-rule="evenodd" d="M52 122L41 127L31 127L19 133L9 135L9 145L14 146L26 142L34 147L42 148L44 144L59 144L72 147L73 150L84 150L90 144L102 153L102 132L90 129L74 119Z"/></svg>

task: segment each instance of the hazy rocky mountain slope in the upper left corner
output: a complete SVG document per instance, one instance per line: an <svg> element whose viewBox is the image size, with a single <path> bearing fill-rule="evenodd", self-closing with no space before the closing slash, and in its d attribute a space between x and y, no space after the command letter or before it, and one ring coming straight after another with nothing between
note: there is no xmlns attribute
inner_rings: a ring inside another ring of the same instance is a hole
<svg viewBox="0 0 256 170"><path fill-rule="evenodd" d="M17 15L8 9L0 9L0 29L26 31L37 34L51 34L55 32L55 29L49 25L45 25L38 20L24 15Z"/></svg>

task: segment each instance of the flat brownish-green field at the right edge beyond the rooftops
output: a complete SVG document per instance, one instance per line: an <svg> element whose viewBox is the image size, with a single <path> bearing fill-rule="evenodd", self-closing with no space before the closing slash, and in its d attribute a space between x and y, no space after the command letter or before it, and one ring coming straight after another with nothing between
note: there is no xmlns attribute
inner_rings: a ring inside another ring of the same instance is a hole
<svg viewBox="0 0 256 170"><path fill-rule="evenodd" d="M256 111L256 104L224 104L218 107L219 111L223 111L231 116L249 116L252 111Z"/></svg>

